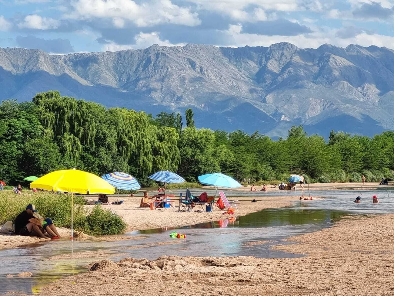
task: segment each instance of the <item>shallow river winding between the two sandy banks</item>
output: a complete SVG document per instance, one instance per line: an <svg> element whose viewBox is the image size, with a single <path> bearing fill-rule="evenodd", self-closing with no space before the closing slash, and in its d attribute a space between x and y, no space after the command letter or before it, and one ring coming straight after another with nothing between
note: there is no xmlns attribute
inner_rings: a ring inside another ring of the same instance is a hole
<svg viewBox="0 0 394 296"><path fill-rule="evenodd" d="M174 192L175 193L175 192ZM199 191L193 192L195 195ZM304 195L305 195L304 191ZM116 242L78 241L69 239L33 244L17 249L0 251L0 294L9 291L33 293L39 287L65 275L86 271L85 267L94 258L45 260L48 257L84 251L105 251L113 256L102 258L119 260L124 257L156 259L161 255L178 256L240 256L251 255L261 258L298 257L270 249L271 245L283 243L290 236L314 232L330 227L333 222L346 215L394 213L394 191L311 191L324 200L295 201L292 206L266 209L236 219L201 223L172 229L151 229L126 233L125 236L139 236L137 240ZM256 199L264 192L226 192L227 196L245 196ZM300 191L292 193L299 196ZM377 194L380 203L372 204L372 195ZM267 196L282 195L268 192ZM362 197L360 204L353 200ZM341 198L338 198L341 197ZM169 237L172 231L185 233L186 239ZM158 245L157 243L165 243ZM7 274L30 271L32 277L7 278Z"/></svg>

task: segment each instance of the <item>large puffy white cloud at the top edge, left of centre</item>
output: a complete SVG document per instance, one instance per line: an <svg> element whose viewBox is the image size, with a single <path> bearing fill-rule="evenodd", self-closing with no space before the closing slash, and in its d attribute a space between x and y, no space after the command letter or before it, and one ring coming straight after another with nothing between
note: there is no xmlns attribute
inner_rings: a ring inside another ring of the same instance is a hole
<svg viewBox="0 0 394 296"><path fill-rule="evenodd" d="M164 23L197 26L201 23L197 13L177 6L171 0L151 0L141 4L132 0L73 0L71 5L74 11L66 15L68 18L111 18L117 20L113 21L115 26L121 24L120 19L132 21L137 26Z"/></svg>

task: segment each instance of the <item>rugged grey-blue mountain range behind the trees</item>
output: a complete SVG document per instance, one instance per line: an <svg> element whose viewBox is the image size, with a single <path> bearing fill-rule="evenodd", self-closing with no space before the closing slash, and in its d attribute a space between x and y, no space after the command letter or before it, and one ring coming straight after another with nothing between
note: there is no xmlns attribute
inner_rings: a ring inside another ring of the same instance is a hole
<svg viewBox="0 0 394 296"><path fill-rule="evenodd" d="M187 44L67 55L0 48L0 99L46 90L153 115L192 108L197 127L271 137L299 124L324 137L331 129L394 129L394 51L386 47Z"/></svg>

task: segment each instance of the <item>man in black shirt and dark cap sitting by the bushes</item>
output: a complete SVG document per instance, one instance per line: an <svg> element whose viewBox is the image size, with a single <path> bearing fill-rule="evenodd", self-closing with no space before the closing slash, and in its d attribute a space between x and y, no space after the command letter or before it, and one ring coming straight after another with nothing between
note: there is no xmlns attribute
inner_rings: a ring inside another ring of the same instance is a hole
<svg viewBox="0 0 394 296"><path fill-rule="evenodd" d="M33 216L37 212L33 204L28 204L26 210L15 218L15 233L17 235L35 235L41 238L47 238L41 232L41 222Z"/></svg>

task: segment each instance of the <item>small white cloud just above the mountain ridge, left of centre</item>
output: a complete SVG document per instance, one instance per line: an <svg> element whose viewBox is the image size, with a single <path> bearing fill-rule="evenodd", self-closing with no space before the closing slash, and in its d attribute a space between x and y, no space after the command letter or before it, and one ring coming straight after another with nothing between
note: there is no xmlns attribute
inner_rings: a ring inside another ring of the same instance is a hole
<svg viewBox="0 0 394 296"><path fill-rule="evenodd" d="M153 44L160 46L183 46L185 43L172 44L168 40L161 40L158 32L139 33L134 37L136 44L120 45L115 42L110 42L102 47L103 51L121 51L124 49L140 49L147 48Z"/></svg>

